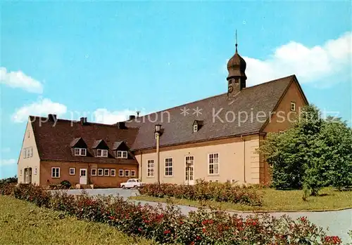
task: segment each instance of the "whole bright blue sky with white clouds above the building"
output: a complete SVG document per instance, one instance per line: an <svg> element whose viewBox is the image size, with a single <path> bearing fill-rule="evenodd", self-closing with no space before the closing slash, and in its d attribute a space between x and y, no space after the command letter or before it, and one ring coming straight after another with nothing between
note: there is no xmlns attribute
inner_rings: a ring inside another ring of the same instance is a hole
<svg viewBox="0 0 352 245"><path fill-rule="evenodd" d="M1 171L13 176L29 114L113 123L296 74L309 102L351 121L351 4L1 3Z"/></svg>

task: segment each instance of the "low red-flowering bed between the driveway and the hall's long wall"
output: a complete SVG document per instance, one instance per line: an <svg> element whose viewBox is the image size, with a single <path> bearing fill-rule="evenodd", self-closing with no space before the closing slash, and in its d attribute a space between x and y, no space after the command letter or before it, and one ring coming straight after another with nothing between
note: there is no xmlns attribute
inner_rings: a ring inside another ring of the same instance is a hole
<svg viewBox="0 0 352 245"><path fill-rule="evenodd" d="M190 200L229 201L234 204L260 206L262 197L254 188L230 183L197 181L196 185L147 184L139 190L151 197L176 197Z"/></svg>

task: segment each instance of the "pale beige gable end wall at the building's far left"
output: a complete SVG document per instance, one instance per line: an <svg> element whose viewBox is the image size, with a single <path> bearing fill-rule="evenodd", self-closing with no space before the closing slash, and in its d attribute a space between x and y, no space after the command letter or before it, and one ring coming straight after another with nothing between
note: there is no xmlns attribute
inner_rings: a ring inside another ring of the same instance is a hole
<svg viewBox="0 0 352 245"><path fill-rule="evenodd" d="M26 147L33 147L33 156L30 158L24 158L24 149ZM25 129L25 135L23 137L23 144L20 151L20 157L18 159L18 183L24 183L25 181L25 168L32 168L32 183L39 185L39 154L37 150L37 144L35 143L32 124L28 120ZM35 169L37 168L37 174L35 174ZM22 171L22 172L21 172Z"/></svg>

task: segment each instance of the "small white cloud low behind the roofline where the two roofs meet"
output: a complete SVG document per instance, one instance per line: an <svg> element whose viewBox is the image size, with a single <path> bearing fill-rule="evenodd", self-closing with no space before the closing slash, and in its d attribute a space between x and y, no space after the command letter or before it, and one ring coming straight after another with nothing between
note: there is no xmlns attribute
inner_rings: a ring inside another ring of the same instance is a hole
<svg viewBox="0 0 352 245"><path fill-rule="evenodd" d="M142 116L145 113L140 113ZM94 121L101 124L115 124L118 121L126 121L130 115L136 115L136 110L109 111L105 108L96 109L93 112Z"/></svg>

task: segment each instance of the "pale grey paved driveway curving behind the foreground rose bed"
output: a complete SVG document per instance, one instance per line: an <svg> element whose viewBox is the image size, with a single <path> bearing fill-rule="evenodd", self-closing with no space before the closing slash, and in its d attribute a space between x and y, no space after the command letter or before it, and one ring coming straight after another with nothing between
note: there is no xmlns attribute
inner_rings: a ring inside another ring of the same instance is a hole
<svg viewBox="0 0 352 245"><path fill-rule="evenodd" d="M80 194L81 190L68 190L70 194ZM89 189L87 190L88 194L96 195L120 195L124 199L128 197L133 197L139 195L138 190L122 190L120 188L111 188L111 189ZM137 202L137 201L136 201ZM141 204L149 203L151 206L156 206L158 203L152 201L138 201ZM165 204L163 204L165 206ZM179 205L182 213L187 214L189 211L196 211L197 208L190 206ZM239 213L241 216L247 216L249 213ZM315 225L324 227L325 229L329 227L328 234L338 235L343 239L344 244L351 242L351 239L348 236L348 231L352 230L352 209L346 209L343 211L329 211L329 212L279 212L279 213L270 213L272 216L279 217L284 214L290 216L291 218L298 218L301 216L307 216Z"/></svg>

